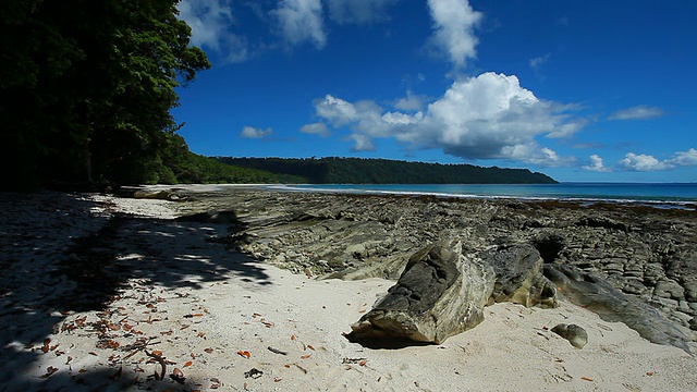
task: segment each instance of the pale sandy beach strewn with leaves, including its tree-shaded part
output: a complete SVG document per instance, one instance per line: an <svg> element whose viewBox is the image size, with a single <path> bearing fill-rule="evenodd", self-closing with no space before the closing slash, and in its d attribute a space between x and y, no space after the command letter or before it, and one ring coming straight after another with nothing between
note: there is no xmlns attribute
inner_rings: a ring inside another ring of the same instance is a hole
<svg viewBox="0 0 697 392"><path fill-rule="evenodd" d="M697 390L695 357L564 301L489 306L440 345L364 347L344 334L394 282L291 273L180 207L0 194L0 391Z"/></svg>

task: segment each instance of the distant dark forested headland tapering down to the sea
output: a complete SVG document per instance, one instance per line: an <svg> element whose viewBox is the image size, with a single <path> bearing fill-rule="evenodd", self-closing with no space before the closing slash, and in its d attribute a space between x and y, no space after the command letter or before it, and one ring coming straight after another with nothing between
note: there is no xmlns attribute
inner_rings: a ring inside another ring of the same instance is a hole
<svg viewBox="0 0 697 392"><path fill-rule="evenodd" d="M296 176L293 182L311 184L553 184L542 173L527 169L481 168L473 164L440 164L388 159L231 158L221 162ZM299 179L298 179L299 177ZM293 179L293 177L291 177Z"/></svg>

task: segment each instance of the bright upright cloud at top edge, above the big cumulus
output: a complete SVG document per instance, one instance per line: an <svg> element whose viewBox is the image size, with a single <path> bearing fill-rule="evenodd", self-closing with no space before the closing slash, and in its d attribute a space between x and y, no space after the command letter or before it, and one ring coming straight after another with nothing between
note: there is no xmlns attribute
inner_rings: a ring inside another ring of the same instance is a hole
<svg viewBox="0 0 697 392"><path fill-rule="evenodd" d="M431 44L444 51L455 68L476 57L477 37L474 28L482 14L472 9L467 0L428 0L433 19Z"/></svg>

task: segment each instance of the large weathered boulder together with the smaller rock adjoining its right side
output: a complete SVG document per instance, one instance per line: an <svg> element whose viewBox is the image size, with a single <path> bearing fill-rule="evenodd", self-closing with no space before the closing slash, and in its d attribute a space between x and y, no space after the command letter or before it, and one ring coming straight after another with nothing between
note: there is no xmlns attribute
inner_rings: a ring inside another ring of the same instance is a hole
<svg viewBox="0 0 697 392"><path fill-rule="evenodd" d="M463 252L458 240L444 240L409 259L398 283L352 326L348 338L440 344L481 322L488 304L513 301L552 306L554 294L531 245L479 254Z"/></svg>

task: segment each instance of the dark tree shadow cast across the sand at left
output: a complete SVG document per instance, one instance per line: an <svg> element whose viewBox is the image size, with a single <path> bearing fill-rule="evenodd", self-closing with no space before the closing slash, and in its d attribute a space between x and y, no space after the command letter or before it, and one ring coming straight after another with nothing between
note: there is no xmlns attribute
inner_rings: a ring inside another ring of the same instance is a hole
<svg viewBox="0 0 697 392"><path fill-rule="evenodd" d="M258 261L229 249L225 238L235 235L229 224L99 212L103 208L110 206L69 194L0 194L0 391L54 390L50 385L71 381L61 378L72 379L71 391L93 390L82 375L29 375L66 315L107 309L130 280L191 290L231 275L271 284ZM120 390L113 373L105 365L89 378L105 376Z"/></svg>

